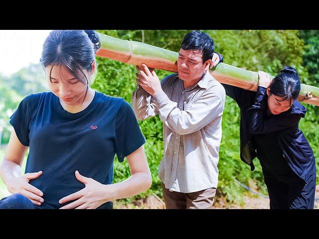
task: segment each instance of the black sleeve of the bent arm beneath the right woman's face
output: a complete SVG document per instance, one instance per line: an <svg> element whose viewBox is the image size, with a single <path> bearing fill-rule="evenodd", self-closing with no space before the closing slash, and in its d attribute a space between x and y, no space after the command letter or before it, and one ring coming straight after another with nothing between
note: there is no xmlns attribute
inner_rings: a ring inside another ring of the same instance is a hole
<svg viewBox="0 0 319 239"><path fill-rule="evenodd" d="M247 110L249 120L249 132L252 134L263 134L290 128L299 123L302 114L273 115L265 119L266 104L264 100L266 88L258 87L255 104Z"/></svg>

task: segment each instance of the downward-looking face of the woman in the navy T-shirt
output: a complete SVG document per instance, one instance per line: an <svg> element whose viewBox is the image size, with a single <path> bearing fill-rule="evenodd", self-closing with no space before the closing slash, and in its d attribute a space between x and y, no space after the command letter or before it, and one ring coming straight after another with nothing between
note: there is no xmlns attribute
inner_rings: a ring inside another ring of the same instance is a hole
<svg viewBox="0 0 319 239"><path fill-rule="evenodd" d="M51 92L66 105L81 104L85 97L86 85L70 74L64 66L57 65L52 68L50 81L51 67L52 65L48 65L45 68L45 75ZM86 70L83 70L83 72L88 78L88 72ZM84 76L83 78L85 80Z"/></svg>

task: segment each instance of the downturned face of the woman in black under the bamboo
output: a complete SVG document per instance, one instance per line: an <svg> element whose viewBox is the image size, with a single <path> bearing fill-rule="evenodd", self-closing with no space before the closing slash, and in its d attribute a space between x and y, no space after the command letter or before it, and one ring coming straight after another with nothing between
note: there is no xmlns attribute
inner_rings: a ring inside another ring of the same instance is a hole
<svg viewBox="0 0 319 239"><path fill-rule="evenodd" d="M285 111L288 111L291 106L294 104L294 99L283 99L274 94L270 94L270 88L267 88L268 95L268 108L273 115L278 115Z"/></svg>

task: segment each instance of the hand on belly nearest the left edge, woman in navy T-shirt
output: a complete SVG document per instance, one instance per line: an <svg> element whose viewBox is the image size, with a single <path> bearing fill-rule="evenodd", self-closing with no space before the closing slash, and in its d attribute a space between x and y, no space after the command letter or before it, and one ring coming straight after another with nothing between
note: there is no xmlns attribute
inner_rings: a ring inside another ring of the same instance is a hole
<svg viewBox="0 0 319 239"><path fill-rule="evenodd" d="M11 177L7 180L6 186L10 193L19 193L31 200L35 205L40 206L44 200L41 190L29 184L31 179L36 179L42 174L42 171L37 173L26 173L20 177Z"/></svg>

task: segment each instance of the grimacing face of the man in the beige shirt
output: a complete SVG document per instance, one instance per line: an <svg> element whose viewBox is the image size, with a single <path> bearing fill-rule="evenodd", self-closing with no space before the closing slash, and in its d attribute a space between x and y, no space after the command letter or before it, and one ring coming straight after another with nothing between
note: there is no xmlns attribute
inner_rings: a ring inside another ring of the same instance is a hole
<svg viewBox="0 0 319 239"><path fill-rule="evenodd" d="M199 81L209 64L210 60L203 63L202 51L180 48L177 58L178 77L185 82Z"/></svg>

